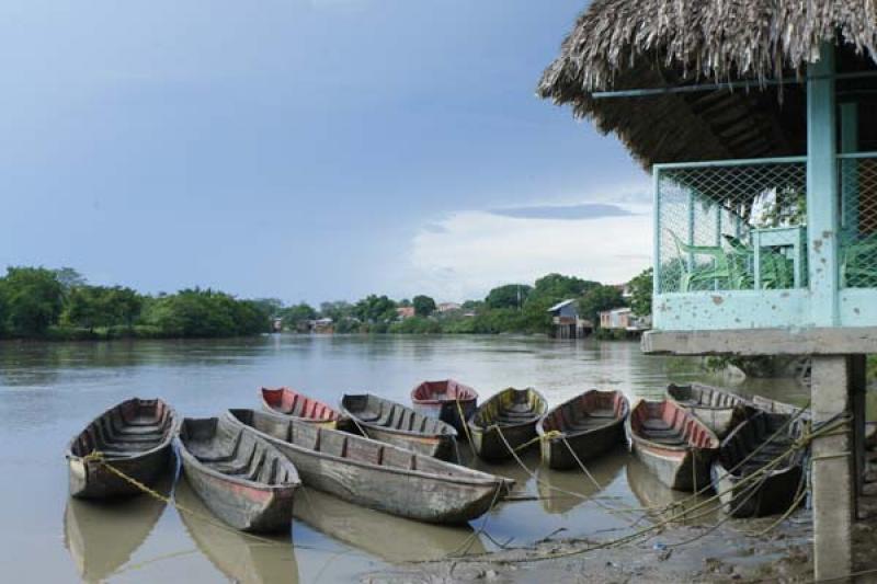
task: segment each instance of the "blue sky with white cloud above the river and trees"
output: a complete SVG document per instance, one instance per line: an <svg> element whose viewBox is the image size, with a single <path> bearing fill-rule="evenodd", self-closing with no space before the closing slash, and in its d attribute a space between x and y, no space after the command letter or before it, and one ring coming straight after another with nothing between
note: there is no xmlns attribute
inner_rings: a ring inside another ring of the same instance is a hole
<svg viewBox="0 0 877 584"><path fill-rule="evenodd" d="M287 302L650 256L647 174L535 95L584 0L5 0L0 266Z"/></svg>

